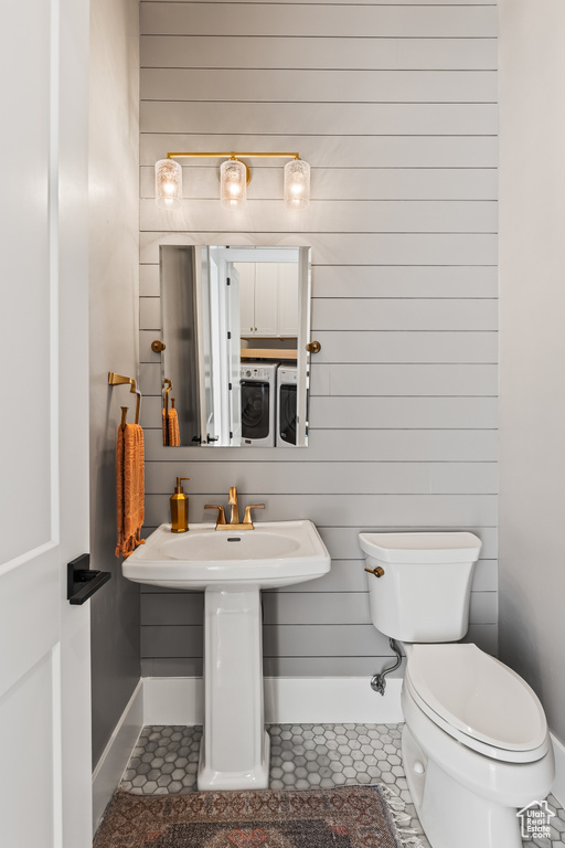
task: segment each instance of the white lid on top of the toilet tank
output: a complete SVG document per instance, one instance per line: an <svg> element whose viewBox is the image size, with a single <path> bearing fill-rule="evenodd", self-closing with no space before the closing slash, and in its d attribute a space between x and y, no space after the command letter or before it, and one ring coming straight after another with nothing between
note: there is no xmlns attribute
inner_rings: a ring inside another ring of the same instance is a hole
<svg viewBox="0 0 565 848"><path fill-rule="evenodd" d="M360 533L361 550L384 562L475 562L481 540L468 532Z"/></svg>

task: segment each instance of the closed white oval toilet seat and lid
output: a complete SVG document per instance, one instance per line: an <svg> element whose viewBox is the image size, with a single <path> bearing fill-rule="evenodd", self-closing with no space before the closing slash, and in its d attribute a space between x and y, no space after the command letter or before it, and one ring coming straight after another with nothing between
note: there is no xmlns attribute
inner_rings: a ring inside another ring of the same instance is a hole
<svg viewBox="0 0 565 848"><path fill-rule="evenodd" d="M436 724L478 753L525 763L547 751L547 723L535 692L476 645L413 645L405 685Z"/></svg>

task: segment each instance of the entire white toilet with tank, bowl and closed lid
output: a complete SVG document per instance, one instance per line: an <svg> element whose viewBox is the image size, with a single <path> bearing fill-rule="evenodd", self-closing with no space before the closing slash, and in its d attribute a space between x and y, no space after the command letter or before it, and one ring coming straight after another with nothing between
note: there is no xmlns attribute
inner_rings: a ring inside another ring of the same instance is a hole
<svg viewBox="0 0 565 848"><path fill-rule="evenodd" d="M402 750L433 848L521 848L516 810L555 775L534 691L467 633L472 533L360 533L374 626L406 653ZM382 573L381 573L382 572ZM424 644L423 644L424 643Z"/></svg>

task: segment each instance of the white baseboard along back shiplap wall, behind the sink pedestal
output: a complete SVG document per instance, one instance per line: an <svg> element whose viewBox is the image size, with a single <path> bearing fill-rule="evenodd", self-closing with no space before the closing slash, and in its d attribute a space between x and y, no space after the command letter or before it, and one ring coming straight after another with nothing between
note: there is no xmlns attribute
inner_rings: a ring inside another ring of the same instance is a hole
<svg viewBox="0 0 565 848"><path fill-rule="evenodd" d="M271 723L403 721L402 678L391 678L384 696L369 677L265 678L265 721ZM146 724L202 724L204 683L194 677L143 678Z"/></svg>

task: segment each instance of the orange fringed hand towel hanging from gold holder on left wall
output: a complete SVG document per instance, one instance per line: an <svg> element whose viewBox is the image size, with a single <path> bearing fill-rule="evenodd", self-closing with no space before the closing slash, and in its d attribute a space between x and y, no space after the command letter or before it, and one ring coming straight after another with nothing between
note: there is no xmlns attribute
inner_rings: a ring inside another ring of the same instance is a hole
<svg viewBox="0 0 565 848"><path fill-rule="evenodd" d="M145 519L143 431L139 424L118 427L116 445L116 501L118 544L116 556L129 556L140 539Z"/></svg>

